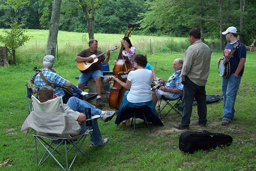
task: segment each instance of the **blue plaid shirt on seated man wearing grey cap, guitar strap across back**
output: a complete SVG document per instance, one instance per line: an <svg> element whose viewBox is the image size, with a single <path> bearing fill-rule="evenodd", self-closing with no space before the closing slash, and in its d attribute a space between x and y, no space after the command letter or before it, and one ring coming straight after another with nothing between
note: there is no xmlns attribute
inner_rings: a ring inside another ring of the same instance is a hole
<svg viewBox="0 0 256 171"><path fill-rule="evenodd" d="M46 69L43 68L42 69L43 75L46 78L46 80L48 80L49 82L53 83L55 86L60 86L63 87L67 80L62 78L59 74L56 74L54 72L52 72L50 69ZM50 87L49 85L47 85L43 79L41 78L41 76L38 74L34 80L34 85L36 87L36 90L40 89L41 87ZM55 87L53 89L54 94L56 94L57 96L65 96L65 92L62 88L60 87Z"/></svg>

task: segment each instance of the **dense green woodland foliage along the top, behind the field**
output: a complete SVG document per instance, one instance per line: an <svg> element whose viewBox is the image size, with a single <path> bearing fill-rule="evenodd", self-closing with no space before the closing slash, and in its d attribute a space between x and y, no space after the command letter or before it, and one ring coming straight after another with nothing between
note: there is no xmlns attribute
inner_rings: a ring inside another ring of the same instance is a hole
<svg viewBox="0 0 256 171"><path fill-rule="evenodd" d="M96 33L121 34L128 23L133 23L136 34L168 36L187 36L191 28L198 27L203 37L219 39L221 29L235 26L244 35L244 42L251 44L256 32L256 1L243 0L244 12L240 1L62 0L59 27L65 31L91 32L93 28ZM48 28L51 11L49 0L0 0L0 27L8 28L17 18L27 28ZM240 29L240 18L244 29ZM86 20L92 21L91 27L87 27Z"/></svg>

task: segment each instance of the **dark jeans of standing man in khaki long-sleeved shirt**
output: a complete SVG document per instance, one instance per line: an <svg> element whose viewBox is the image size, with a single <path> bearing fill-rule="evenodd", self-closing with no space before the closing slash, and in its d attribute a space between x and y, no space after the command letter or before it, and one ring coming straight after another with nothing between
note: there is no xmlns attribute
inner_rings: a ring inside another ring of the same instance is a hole
<svg viewBox="0 0 256 171"><path fill-rule="evenodd" d="M207 107L206 107L206 91L205 86L198 86L194 84L188 77L186 77L187 84L183 87L182 107L183 114L181 118L181 126L188 127L192 114L192 104L194 98L197 101L198 121L202 124L207 123Z"/></svg>

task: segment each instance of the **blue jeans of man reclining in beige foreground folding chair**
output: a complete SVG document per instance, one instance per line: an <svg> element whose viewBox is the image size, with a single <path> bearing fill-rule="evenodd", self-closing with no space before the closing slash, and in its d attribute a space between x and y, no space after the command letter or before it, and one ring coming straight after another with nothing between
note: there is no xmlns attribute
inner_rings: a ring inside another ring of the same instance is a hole
<svg viewBox="0 0 256 171"><path fill-rule="evenodd" d="M68 105L70 109L72 109L73 111L77 111L80 113L85 113L85 108L91 108L92 116L101 113L100 109L97 109L95 106L92 106L90 103L87 103L86 101L80 100L79 98L76 98L76 97L70 97L66 105ZM86 129L88 129L85 122L80 124L80 127L81 127L80 134L85 133ZM101 137L100 129L98 127L98 119L92 119L91 129L93 129L93 131L91 132L90 140L96 144L100 143L102 137Z"/></svg>

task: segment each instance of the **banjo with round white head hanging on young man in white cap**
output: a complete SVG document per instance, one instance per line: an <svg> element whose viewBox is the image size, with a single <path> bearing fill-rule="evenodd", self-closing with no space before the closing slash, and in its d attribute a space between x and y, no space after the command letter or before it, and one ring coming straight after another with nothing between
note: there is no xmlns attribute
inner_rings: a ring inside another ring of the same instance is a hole
<svg viewBox="0 0 256 171"><path fill-rule="evenodd" d="M232 54L235 53L235 50L239 47L239 43L236 42L236 44L234 45L234 47L230 50L228 56L222 60L220 60L219 62L219 66L218 66L218 73L220 76L222 76L223 78L228 78L229 74L230 74L230 63L229 63L229 59L231 57Z"/></svg>

